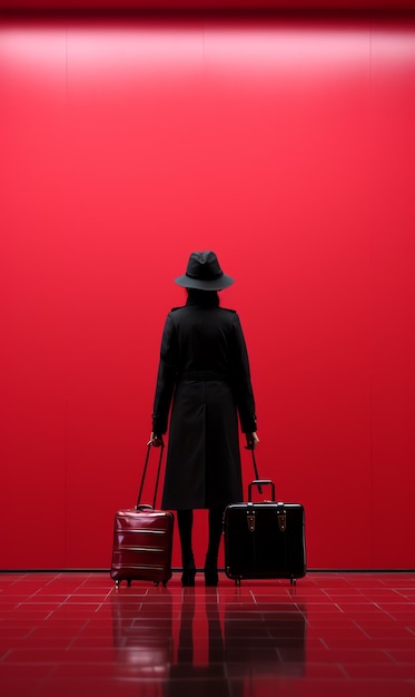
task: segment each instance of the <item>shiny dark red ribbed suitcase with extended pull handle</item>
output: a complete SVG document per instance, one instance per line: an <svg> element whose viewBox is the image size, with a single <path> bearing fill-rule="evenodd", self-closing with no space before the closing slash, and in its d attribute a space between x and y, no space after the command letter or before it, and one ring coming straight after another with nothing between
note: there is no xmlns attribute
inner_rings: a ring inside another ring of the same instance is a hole
<svg viewBox="0 0 415 697"><path fill-rule="evenodd" d="M152 581L155 586L161 581L166 586L171 578L175 519L171 512L156 510L162 445L152 505L140 503L150 449L151 442L147 448L136 508L118 510L115 516L110 577L116 581L117 588L123 580L127 581L128 586L131 586L132 580Z"/></svg>

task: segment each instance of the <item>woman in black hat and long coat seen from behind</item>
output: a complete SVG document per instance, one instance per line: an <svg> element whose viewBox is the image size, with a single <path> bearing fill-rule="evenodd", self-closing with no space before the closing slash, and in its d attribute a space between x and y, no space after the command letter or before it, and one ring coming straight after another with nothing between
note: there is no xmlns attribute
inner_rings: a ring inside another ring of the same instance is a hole
<svg viewBox="0 0 415 697"><path fill-rule="evenodd" d="M205 582L218 583L226 505L243 500L238 416L247 446L259 442L249 362L238 315L219 307L234 279L214 252L194 252L184 276L187 303L167 316L156 386L151 442L161 445L171 405L161 507L177 511L184 586L194 586L194 509L209 509Z"/></svg>

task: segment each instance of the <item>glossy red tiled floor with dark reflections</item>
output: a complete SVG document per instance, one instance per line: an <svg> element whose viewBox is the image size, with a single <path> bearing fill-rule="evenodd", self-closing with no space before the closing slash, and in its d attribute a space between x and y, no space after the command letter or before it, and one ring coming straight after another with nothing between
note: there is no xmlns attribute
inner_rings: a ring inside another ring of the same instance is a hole
<svg viewBox="0 0 415 697"><path fill-rule="evenodd" d="M1 696L415 696L415 573L199 576L0 575Z"/></svg>

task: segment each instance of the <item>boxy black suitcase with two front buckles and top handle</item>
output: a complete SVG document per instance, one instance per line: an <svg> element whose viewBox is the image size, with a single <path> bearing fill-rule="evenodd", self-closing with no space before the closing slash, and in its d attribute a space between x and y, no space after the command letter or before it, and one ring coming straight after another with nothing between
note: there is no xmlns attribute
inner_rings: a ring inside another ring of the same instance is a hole
<svg viewBox="0 0 415 697"><path fill-rule="evenodd" d="M253 487L270 485L271 501L253 503ZM289 579L306 573L305 516L300 503L275 500L271 480L254 480L248 502L233 503L224 513L225 572L240 585L243 579Z"/></svg>

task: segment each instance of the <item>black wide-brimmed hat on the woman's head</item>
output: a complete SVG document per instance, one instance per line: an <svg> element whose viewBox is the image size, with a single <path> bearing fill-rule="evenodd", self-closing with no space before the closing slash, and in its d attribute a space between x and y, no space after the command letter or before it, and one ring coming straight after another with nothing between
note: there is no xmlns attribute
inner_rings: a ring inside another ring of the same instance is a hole
<svg viewBox="0 0 415 697"><path fill-rule="evenodd" d="M189 256L186 274L175 278L177 285L199 291L221 291L234 283L234 278L224 274L215 252L192 252Z"/></svg>

